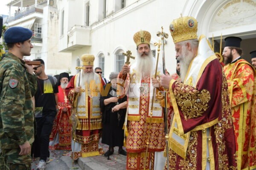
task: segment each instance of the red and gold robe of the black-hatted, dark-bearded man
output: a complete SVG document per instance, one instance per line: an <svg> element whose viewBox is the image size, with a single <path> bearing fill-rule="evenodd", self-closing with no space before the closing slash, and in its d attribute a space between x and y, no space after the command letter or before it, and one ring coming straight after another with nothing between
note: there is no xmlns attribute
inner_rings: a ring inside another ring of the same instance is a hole
<svg viewBox="0 0 256 170"><path fill-rule="evenodd" d="M230 104L236 136L238 170L256 168L256 71L247 61L240 59L224 66L228 82ZM250 165L249 165L250 162Z"/></svg>

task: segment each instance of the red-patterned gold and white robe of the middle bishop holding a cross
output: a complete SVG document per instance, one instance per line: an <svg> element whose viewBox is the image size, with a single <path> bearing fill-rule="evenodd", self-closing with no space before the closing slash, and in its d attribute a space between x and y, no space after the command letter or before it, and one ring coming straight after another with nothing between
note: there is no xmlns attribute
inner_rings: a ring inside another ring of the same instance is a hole
<svg viewBox="0 0 256 170"><path fill-rule="evenodd" d="M154 87L152 86L151 78L154 78L155 71L152 70L151 77L143 77L142 73L135 68L136 65L135 63L131 66L129 75L119 74L119 78L122 78L128 84L124 88L128 98L128 116L126 118L126 121L128 120L128 136L126 138L128 155L126 169L143 169L148 139L147 163L145 165L146 170L148 170L154 167L154 152L163 151L165 147L163 109L160 106L163 94L159 89L156 89L152 100ZM155 63L153 65L154 67L156 66ZM163 69L159 66L157 78L160 77L161 70ZM151 127L149 127L152 102ZM151 167L149 167L150 162Z"/></svg>

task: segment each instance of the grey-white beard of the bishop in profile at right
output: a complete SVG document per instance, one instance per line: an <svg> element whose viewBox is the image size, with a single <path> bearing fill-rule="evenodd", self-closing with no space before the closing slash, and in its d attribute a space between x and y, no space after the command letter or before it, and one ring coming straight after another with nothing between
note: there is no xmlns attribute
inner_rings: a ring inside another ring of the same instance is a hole
<svg viewBox="0 0 256 170"><path fill-rule="evenodd" d="M180 78L181 82L183 83L185 81L186 73L189 69L189 64L192 61L193 57L193 52L188 51L186 49L186 46L182 46L181 55L177 57L177 60L180 61Z"/></svg>

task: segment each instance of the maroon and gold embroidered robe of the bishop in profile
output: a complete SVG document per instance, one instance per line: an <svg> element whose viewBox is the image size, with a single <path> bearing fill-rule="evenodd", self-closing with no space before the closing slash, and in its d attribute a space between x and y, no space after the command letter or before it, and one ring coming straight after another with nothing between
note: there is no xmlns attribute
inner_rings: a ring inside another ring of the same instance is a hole
<svg viewBox="0 0 256 170"><path fill-rule="evenodd" d="M169 93L174 109L169 170L236 170L227 81L204 36L184 83L171 80Z"/></svg>

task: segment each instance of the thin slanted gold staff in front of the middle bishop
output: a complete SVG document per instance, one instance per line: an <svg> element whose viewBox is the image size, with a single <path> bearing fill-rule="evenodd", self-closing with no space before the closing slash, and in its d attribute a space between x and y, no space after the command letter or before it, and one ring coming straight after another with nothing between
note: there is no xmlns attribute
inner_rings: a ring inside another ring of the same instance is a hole
<svg viewBox="0 0 256 170"><path fill-rule="evenodd" d="M159 52L160 52L160 40L158 43L154 43L154 46L158 46L157 49L157 65L156 65L156 71L155 71L155 76L154 78L157 78L157 66L158 66L158 59L159 59ZM152 121L152 116L153 116L153 104L154 104L154 93L155 93L155 88L153 89L153 96L152 96L152 102L151 102L151 110L150 110L150 119L149 119L149 126L148 126L148 138L146 141L146 153L145 153L145 158L144 158L144 170L146 169L146 163L147 163L147 156L148 156L148 145L149 145L149 138L150 138L150 130L151 130L151 121Z"/></svg>

